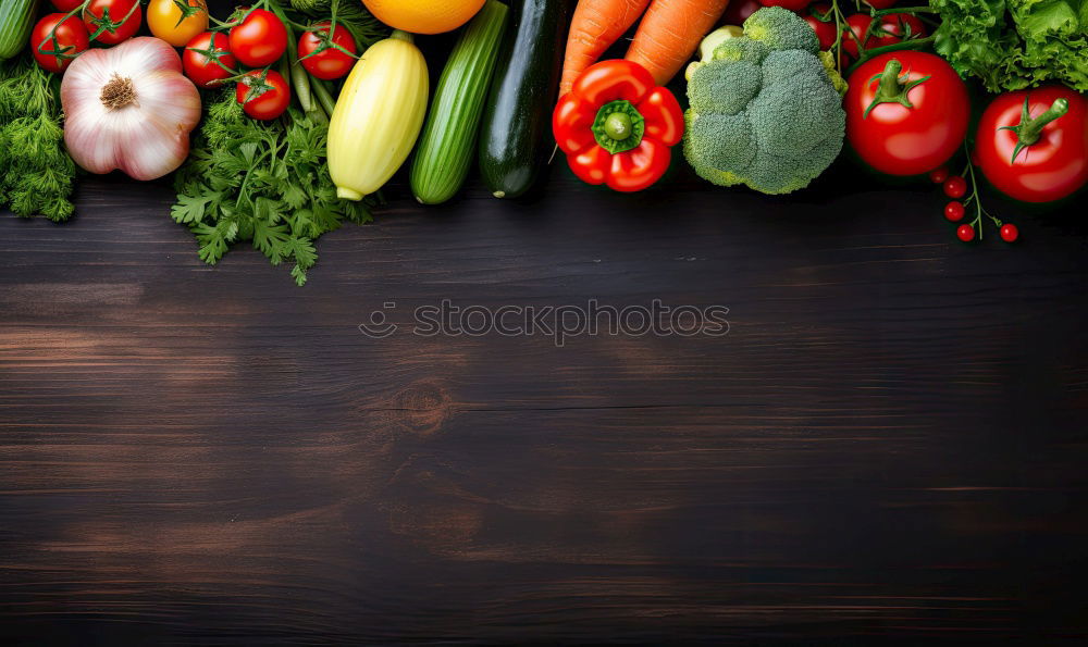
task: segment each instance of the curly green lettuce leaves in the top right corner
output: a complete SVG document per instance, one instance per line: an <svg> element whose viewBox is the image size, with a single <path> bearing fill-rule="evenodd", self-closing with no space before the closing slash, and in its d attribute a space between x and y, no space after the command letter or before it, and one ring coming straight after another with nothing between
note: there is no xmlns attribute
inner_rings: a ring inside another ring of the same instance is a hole
<svg viewBox="0 0 1088 647"><path fill-rule="evenodd" d="M1088 1L932 0L935 49L992 92L1055 80L1088 90Z"/></svg>

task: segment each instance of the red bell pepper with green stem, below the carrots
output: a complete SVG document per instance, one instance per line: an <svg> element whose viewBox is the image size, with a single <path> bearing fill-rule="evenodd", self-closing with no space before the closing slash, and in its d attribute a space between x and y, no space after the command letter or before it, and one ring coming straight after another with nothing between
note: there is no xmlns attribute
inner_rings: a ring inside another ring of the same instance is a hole
<svg viewBox="0 0 1088 647"><path fill-rule="evenodd" d="M642 65L601 61L559 99L552 130L583 182L640 191L669 167L670 149L683 136L683 111Z"/></svg>

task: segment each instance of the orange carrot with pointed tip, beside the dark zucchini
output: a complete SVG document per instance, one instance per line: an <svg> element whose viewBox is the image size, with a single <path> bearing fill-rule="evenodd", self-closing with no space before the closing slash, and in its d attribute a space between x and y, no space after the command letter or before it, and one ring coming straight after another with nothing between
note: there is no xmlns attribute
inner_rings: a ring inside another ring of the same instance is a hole
<svg viewBox="0 0 1088 647"><path fill-rule="evenodd" d="M650 0L578 0L567 36L559 96L570 91L574 79L597 62L601 54L627 32Z"/></svg>

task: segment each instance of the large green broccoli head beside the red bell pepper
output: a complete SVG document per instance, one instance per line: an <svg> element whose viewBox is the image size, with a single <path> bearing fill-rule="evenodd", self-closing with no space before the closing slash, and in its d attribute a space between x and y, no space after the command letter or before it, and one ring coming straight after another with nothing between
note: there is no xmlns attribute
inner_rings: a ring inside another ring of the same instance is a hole
<svg viewBox="0 0 1088 647"><path fill-rule="evenodd" d="M684 157L705 179L765 194L808 186L842 149L842 78L798 14L767 7L724 27L688 69Z"/></svg>

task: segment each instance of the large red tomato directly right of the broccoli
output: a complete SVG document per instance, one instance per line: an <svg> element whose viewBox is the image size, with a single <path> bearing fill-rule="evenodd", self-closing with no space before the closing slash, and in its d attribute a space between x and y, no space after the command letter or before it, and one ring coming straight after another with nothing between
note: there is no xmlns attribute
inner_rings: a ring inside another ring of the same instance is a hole
<svg viewBox="0 0 1088 647"><path fill-rule="evenodd" d="M940 57L880 54L860 65L849 84L846 139L877 171L927 173L947 162L967 134L967 88Z"/></svg>

